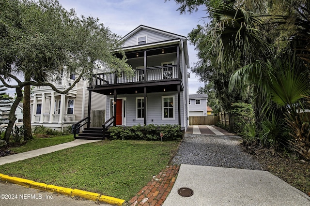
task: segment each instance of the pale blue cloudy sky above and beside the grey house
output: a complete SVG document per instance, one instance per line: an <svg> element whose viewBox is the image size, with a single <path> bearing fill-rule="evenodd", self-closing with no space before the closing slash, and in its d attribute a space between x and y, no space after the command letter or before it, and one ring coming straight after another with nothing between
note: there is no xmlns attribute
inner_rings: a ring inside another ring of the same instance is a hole
<svg viewBox="0 0 310 206"><path fill-rule="evenodd" d="M59 0L69 10L74 8L77 15L98 17L100 22L118 35L124 36L139 25L169 31L182 36L203 23L205 7L198 12L180 15L174 0ZM188 44L190 66L198 61L194 46ZM190 72L190 70L188 70ZM195 94L203 83L195 74L190 74L189 94Z"/></svg>

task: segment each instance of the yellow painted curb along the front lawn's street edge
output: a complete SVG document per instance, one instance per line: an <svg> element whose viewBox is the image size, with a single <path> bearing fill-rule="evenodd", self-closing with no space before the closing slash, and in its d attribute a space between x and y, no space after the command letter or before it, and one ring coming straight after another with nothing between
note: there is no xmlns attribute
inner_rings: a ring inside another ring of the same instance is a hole
<svg viewBox="0 0 310 206"><path fill-rule="evenodd" d="M39 189L43 191L51 191L51 192L56 192L60 194L65 194L68 196L78 196L78 197L82 197L82 198L93 200L93 201L105 202L111 205L122 206L125 202L125 200L106 196L106 195L101 195L99 193L83 191L83 190L78 190L78 189L64 188L64 187L59 187L55 185L47 185L45 183L35 182L32 180L23 179L19 177L11 177L8 175L3 175L3 174L0 174L0 180L8 181L11 183L15 183L18 185L23 185L26 187L31 187L31 188Z"/></svg>

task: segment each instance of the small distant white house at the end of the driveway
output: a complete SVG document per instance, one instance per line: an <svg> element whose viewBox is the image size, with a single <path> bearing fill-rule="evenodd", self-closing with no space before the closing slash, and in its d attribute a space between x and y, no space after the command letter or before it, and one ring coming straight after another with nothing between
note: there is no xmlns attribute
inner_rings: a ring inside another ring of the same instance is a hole
<svg viewBox="0 0 310 206"><path fill-rule="evenodd" d="M207 113L207 94L190 94L188 95L189 116L208 116Z"/></svg>

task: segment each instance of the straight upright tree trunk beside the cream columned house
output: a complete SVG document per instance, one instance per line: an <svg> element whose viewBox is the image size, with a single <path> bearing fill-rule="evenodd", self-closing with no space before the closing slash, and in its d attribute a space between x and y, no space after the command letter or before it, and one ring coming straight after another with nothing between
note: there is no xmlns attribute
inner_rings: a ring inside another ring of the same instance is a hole
<svg viewBox="0 0 310 206"><path fill-rule="evenodd" d="M30 92L31 86L24 87L24 103L23 103L23 124L24 124L24 139L32 139L31 132L31 114L30 114Z"/></svg>

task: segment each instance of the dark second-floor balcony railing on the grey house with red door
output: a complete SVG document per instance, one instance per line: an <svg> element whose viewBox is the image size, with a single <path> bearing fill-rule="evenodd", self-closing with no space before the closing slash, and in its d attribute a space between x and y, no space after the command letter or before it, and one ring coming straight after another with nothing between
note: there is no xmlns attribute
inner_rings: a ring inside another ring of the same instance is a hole
<svg viewBox="0 0 310 206"><path fill-rule="evenodd" d="M90 86L104 86L113 84L139 83L151 81L169 81L172 79L181 79L181 71L177 65L168 65L160 67L148 67L146 69L137 69L133 76L122 74L117 76L115 73L94 74Z"/></svg>

